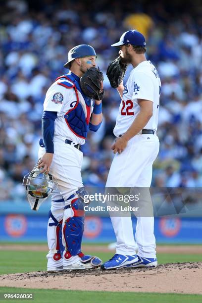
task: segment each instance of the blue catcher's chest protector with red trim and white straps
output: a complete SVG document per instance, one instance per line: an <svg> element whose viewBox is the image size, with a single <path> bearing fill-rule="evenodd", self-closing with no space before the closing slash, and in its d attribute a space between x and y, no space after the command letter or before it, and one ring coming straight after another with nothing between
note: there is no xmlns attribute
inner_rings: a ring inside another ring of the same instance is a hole
<svg viewBox="0 0 202 303"><path fill-rule="evenodd" d="M64 82L59 82L58 85L64 86L67 89L74 89L77 98L76 105L75 103L72 104L73 107L64 115L65 121L76 136L86 139L90 116L93 110L93 100L82 93L79 82L72 75L67 74L58 77L56 80L58 79L64 79Z"/></svg>

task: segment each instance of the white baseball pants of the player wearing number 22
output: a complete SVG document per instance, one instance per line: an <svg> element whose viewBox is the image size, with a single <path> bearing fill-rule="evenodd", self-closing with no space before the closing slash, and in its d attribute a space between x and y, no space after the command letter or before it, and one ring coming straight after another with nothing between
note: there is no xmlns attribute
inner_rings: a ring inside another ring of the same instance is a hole
<svg viewBox="0 0 202 303"><path fill-rule="evenodd" d="M110 187L145 187L152 182L152 164L159 151L159 140L156 135L136 135L129 140L126 149L116 153L107 178L106 188ZM135 241L131 215L111 216L116 235L116 253L135 254ZM153 233L153 216L137 216L135 240L138 254L143 257L155 257L155 237Z"/></svg>

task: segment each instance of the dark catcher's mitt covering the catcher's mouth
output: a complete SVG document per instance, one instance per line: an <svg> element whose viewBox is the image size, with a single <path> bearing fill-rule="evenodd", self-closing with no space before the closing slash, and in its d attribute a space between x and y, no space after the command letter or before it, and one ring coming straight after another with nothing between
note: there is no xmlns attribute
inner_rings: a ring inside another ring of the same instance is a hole
<svg viewBox="0 0 202 303"><path fill-rule="evenodd" d="M83 93L89 98L101 100L104 95L104 90L101 86L103 79L103 74L98 68L88 68L80 79L80 86Z"/></svg>

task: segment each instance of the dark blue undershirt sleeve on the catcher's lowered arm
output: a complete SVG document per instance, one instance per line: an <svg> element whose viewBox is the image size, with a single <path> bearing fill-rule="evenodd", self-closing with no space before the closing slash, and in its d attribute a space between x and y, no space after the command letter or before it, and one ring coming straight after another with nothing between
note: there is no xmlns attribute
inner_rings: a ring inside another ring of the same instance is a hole
<svg viewBox="0 0 202 303"><path fill-rule="evenodd" d="M54 153L54 121L57 118L56 111L45 110L42 115L42 135L46 152Z"/></svg>

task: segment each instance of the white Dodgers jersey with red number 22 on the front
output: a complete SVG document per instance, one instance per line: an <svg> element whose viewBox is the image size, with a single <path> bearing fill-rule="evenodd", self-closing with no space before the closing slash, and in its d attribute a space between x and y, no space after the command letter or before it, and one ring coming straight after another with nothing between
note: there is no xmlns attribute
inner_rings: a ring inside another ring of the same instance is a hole
<svg viewBox="0 0 202 303"><path fill-rule="evenodd" d="M144 129L157 130L161 83L155 66L143 61L135 67L128 78L116 118L114 135L124 134L140 111L138 99L153 102L153 115Z"/></svg>

